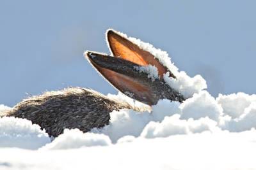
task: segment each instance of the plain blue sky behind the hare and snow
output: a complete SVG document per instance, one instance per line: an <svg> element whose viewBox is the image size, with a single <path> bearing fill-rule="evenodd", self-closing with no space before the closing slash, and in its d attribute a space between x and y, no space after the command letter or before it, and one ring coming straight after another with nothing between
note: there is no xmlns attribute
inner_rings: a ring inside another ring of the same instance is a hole
<svg viewBox="0 0 256 170"><path fill-rule="evenodd" d="M0 2L0 103L88 87L116 93L83 57L108 52L108 28L166 50L180 70L202 74L213 96L255 93L256 1Z"/></svg>

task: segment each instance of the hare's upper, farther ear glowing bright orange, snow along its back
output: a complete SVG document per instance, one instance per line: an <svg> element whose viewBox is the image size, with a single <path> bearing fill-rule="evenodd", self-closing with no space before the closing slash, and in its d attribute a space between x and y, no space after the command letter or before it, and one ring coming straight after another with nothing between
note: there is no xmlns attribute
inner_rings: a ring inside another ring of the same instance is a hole
<svg viewBox="0 0 256 170"><path fill-rule="evenodd" d="M115 57L129 60L140 66L147 66L149 64L156 66L160 78L163 78L163 74L167 72L167 68L164 67L152 53L142 50L138 45L124 38L124 36L121 36L118 32L109 29L106 32L106 36L109 48ZM175 76L173 77L175 78Z"/></svg>

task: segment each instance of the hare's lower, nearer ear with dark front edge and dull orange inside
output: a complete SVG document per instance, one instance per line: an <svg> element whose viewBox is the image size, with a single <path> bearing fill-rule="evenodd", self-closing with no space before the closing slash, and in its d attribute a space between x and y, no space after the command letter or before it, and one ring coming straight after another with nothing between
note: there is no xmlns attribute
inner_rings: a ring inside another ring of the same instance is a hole
<svg viewBox="0 0 256 170"><path fill-rule="evenodd" d="M148 80L147 76L143 79L141 73L134 69L135 65L132 62L96 52L86 52L85 56L92 66L120 92L143 103L156 104L156 95L149 84L152 81Z"/></svg>

